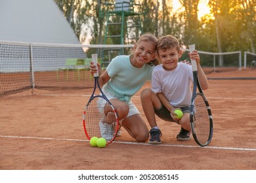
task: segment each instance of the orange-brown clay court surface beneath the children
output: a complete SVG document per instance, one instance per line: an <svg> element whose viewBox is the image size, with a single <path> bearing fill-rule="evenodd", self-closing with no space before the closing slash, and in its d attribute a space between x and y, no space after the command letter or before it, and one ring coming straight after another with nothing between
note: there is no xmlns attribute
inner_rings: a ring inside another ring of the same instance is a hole
<svg viewBox="0 0 256 183"><path fill-rule="evenodd" d="M161 145L138 143L123 129L121 137L93 148L83 131L83 109L91 90L31 90L0 98L0 169L7 170L255 170L256 70L207 75L205 95L213 112L214 132L204 148L194 139L176 140L180 126L158 118ZM150 84L144 85L149 88ZM140 105L140 92L133 102ZM149 126L148 126L149 128Z"/></svg>

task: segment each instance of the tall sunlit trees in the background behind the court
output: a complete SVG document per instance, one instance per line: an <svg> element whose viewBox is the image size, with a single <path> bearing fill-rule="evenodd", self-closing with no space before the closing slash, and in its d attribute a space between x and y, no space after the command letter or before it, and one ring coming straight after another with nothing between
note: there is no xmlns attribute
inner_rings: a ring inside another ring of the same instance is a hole
<svg viewBox="0 0 256 183"><path fill-rule="evenodd" d="M104 2L91 0L55 0L81 42L91 33L91 44L102 44L106 17ZM114 3L114 0L108 2ZM256 0L209 0L211 15L198 20L200 0L179 0L182 12L172 12L171 0L135 0L142 6L142 32L157 37L171 34L181 44L196 43L210 52L246 50L255 53ZM117 29L111 29L113 33ZM116 42L109 42L117 44Z"/></svg>

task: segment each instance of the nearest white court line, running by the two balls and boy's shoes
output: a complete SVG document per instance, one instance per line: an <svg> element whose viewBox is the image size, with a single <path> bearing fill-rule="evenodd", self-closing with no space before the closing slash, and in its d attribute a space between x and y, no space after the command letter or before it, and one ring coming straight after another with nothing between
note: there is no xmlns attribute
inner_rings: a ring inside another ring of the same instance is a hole
<svg viewBox="0 0 256 183"><path fill-rule="evenodd" d="M0 135L2 138L17 138L17 139L40 139L40 140L54 140L54 141L83 141L89 142L89 140L81 140L81 139L58 139L58 138L51 138L51 137L23 137L23 136L5 136ZM152 145L143 142L123 142L123 141L114 141L113 143L118 144L135 144L135 145L146 145L146 146L169 146L169 147L182 147L182 148L209 148L209 149L221 149L221 150L241 150L241 151L256 151L256 148L232 148L232 147L217 147L217 146L188 146L188 145L180 145L180 144L158 144Z"/></svg>

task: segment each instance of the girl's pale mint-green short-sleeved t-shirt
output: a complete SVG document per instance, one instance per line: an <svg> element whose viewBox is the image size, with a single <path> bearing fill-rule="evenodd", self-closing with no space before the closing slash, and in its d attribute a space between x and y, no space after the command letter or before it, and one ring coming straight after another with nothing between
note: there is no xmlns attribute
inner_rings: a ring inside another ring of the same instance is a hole
<svg viewBox="0 0 256 183"><path fill-rule="evenodd" d="M117 56L106 69L111 78L102 89L127 101L127 97L131 99L146 80L151 80L153 69L154 66L148 64L141 68L133 67L130 56Z"/></svg>

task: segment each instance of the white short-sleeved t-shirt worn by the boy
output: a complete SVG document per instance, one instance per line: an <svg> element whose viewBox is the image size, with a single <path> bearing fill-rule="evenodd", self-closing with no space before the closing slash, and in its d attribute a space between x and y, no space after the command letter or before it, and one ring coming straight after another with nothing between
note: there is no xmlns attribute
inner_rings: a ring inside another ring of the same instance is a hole
<svg viewBox="0 0 256 183"><path fill-rule="evenodd" d="M152 91L163 93L173 107L186 107L191 103L193 82L192 66L178 63L172 71L157 65L152 71Z"/></svg>

